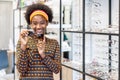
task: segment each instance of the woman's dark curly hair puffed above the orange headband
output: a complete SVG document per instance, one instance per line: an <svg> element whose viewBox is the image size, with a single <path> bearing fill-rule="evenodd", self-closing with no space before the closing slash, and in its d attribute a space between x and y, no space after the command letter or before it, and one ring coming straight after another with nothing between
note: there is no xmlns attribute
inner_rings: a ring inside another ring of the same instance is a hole
<svg viewBox="0 0 120 80"><path fill-rule="evenodd" d="M36 3L28 6L26 13L25 13L25 19L28 24L30 24L30 15L35 10L43 10L48 15L48 21L52 22L53 19L53 12L51 8L49 8L47 5Z"/></svg>

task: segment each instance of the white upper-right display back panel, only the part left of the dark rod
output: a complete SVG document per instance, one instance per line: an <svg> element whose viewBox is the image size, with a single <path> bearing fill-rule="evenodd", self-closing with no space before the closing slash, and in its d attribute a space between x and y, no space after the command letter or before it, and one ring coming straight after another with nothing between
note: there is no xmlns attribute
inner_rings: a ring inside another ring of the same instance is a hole
<svg viewBox="0 0 120 80"><path fill-rule="evenodd" d="M86 31L100 32L108 27L108 0L86 0Z"/></svg>

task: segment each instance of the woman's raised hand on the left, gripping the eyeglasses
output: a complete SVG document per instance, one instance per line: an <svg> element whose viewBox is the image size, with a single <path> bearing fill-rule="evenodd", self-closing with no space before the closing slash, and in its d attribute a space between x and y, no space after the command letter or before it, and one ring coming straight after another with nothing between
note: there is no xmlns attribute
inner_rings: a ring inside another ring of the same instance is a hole
<svg viewBox="0 0 120 80"><path fill-rule="evenodd" d="M28 30L24 29L20 33L21 49L26 50L28 42Z"/></svg>

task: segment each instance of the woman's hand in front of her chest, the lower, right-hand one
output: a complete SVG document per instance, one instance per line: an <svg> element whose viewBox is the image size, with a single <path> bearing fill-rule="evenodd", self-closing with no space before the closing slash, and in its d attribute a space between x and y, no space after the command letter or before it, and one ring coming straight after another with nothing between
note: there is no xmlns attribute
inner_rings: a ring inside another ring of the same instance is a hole
<svg viewBox="0 0 120 80"><path fill-rule="evenodd" d="M45 57L45 37L43 40L38 40L37 48L40 56L44 58Z"/></svg>

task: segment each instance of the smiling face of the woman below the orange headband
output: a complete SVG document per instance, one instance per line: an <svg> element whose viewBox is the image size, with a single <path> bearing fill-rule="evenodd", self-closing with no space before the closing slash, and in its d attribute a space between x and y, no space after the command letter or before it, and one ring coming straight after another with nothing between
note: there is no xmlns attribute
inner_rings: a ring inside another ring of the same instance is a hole
<svg viewBox="0 0 120 80"><path fill-rule="evenodd" d="M35 34L44 34L48 21L41 15L36 15L32 18L31 28L34 30Z"/></svg>

